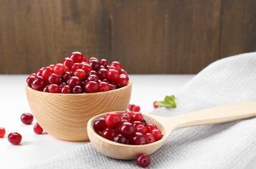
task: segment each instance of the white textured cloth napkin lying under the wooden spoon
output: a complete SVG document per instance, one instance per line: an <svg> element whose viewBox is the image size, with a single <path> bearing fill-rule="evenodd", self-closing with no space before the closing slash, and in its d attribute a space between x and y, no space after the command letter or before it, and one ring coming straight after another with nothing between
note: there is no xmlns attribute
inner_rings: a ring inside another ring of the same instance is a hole
<svg viewBox="0 0 256 169"><path fill-rule="evenodd" d="M161 86L159 86L161 87ZM171 95L171 94L170 94ZM160 108L160 116L256 100L256 53L218 60L176 94L177 109ZM245 168L256 155L256 118L179 129L150 155L149 168ZM135 161L111 159L90 143L29 168L137 168Z"/></svg>

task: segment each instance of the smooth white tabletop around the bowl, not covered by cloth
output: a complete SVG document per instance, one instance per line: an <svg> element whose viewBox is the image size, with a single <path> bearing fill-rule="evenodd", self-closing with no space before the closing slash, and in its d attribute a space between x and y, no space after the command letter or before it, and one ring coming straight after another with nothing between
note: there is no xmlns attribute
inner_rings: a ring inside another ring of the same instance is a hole
<svg viewBox="0 0 256 169"><path fill-rule="evenodd" d="M6 135L0 138L0 168L25 168L54 155L72 150L86 142L66 142L51 135L36 135L33 125L20 121L23 112L31 112L25 95L25 80L28 75L0 75L0 127ZM154 110L152 103L166 95L177 93L194 75L130 75L133 82L130 103L141 107L141 112ZM13 146L7 135L18 132L22 135L21 144ZM248 168L256 166L256 159Z"/></svg>

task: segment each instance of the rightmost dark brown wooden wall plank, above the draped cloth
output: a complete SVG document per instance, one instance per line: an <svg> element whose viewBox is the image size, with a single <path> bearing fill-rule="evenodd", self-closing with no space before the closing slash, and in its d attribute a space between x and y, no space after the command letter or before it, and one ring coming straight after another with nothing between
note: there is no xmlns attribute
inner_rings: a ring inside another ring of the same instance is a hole
<svg viewBox="0 0 256 169"><path fill-rule="evenodd" d="M256 1L223 0L220 57L256 51Z"/></svg>

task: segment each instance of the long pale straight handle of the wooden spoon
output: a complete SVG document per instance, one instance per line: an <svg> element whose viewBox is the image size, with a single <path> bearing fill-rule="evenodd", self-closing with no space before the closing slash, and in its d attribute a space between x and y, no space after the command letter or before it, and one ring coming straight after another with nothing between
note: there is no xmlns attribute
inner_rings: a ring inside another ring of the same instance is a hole
<svg viewBox="0 0 256 169"><path fill-rule="evenodd" d="M225 123L255 116L256 101L225 105L176 116L175 129L194 125Z"/></svg>

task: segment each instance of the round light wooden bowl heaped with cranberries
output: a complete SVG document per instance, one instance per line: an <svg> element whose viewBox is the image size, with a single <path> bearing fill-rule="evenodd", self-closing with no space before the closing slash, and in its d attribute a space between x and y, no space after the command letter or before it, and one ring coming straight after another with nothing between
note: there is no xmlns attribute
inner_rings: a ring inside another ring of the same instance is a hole
<svg viewBox="0 0 256 169"><path fill-rule="evenodd" d="M66 141L87 141L87 122L93 116L124 111L130 103L132 83L122 88L91 94L51 94L25 86L29 107L40 126L51 136Z"/></svg>

